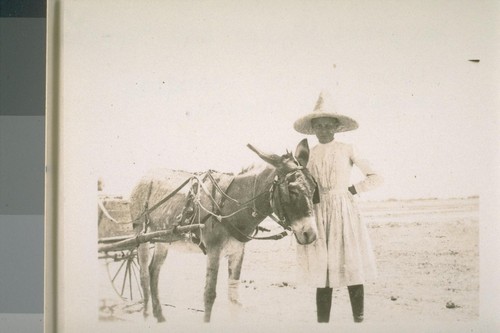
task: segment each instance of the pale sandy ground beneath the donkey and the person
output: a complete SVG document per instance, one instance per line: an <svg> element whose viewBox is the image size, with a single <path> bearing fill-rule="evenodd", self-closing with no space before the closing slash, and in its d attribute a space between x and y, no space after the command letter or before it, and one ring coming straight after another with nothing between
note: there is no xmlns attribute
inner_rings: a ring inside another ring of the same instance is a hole
<svg viewBox="0 0 500 333"><path fill-rule="evenodd" d="M361 325L478 320L478 198L364 202L360 206L379 270L378 279L365 285L365 322ZM110 286L105 261L101 262L102 322L165 325L156 324L151 317L145 320L140 303L120 300ZM213 325L314 324L315 290L297 285L296 272L292 237L249 242L240 287L243 306L234 307L227 301L227 263L223 260ZM169 324L202 322L204 276L201 252L170 251L160 279L161 302ZM351 325L347 289L334 290L333 297L331 323L327 325Z"/></svg>

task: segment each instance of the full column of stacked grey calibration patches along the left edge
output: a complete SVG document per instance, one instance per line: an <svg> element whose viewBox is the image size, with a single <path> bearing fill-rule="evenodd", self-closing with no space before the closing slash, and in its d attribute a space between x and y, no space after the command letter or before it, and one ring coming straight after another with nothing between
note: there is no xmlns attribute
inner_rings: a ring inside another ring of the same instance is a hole
<svg viewBox="0 0 500 333"><path fill-rule="evenodd" d="M0 313L12 314L2 332L43 330L41 315L20 313L44 310L45 42L45 18L0 18Z"/></svg>

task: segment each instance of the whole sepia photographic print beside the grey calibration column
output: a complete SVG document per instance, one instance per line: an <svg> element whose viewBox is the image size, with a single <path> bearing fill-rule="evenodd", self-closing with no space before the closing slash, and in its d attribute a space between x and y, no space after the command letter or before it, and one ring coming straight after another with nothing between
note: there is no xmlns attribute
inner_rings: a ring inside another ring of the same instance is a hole
<svg viewBox="0 0 500 333"><path fill-rule="evenodd" d="M496 2L49 11L58 331L496 327Z"/></svg>

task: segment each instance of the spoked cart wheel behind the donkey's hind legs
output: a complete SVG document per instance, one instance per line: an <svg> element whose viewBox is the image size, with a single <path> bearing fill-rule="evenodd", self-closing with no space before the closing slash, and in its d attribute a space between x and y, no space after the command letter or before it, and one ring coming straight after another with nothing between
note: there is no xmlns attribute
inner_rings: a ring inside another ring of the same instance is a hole
<svg viewBox="0 0 500 333"><path fill-rule="evenodd" d="M111 285L121 299L142 300L140 269L135 249L120 251L108 257L106 269Z"/></svg>

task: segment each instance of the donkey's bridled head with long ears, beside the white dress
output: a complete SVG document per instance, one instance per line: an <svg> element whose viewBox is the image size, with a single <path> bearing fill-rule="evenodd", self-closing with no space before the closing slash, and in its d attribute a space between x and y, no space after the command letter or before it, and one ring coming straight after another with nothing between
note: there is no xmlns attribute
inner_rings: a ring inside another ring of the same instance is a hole
<svg viewBox="0 0 500 333"><path fill-rule="evenodd" d="M307 139L302 140L295 156L265 154L248 145L260 158L276 168L271 191L271 206L285 227L292 229L299 244L316 240L317 228L313 201L318 199L316 181L306 169L309 160Z"/></svg>

